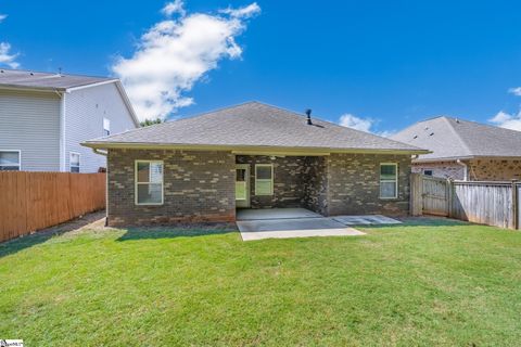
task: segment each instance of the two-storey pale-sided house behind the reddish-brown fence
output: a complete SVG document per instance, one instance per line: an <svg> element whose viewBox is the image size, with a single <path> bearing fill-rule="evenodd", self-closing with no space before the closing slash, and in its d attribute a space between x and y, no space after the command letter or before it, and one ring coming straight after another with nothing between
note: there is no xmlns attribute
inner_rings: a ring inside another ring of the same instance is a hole
<svg viewBox="0 0 521 347"><path fill-rule="evenodd" d="M97 172L85 140L139 127L118 79L0 69L0 170Z"/></svg>

